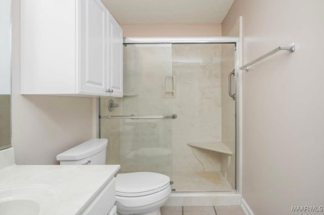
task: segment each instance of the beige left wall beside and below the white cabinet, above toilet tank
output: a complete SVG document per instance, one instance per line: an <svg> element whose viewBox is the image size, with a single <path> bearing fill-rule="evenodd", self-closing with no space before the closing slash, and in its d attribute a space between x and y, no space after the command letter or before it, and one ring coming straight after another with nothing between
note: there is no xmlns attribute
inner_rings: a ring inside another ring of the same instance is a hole
<svg viewBox="0 0 324 215"><path fill-rule="evenodd" d="M20 1L13 0L12 146L16 163L55 164L57 154L92 138L93 99L20 95L19 13Z"/></svg>

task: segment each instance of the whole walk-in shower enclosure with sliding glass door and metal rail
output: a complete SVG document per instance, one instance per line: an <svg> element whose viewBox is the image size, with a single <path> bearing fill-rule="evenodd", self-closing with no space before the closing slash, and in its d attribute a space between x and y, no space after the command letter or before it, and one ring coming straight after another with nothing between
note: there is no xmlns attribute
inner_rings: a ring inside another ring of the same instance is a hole
<svg viewBox="0 0 324 215"><path fill-rule="evenodd" d="M99 100L107 164L168 175L175 192L235 192L236 44L125 38L124 96Z"/></svg>

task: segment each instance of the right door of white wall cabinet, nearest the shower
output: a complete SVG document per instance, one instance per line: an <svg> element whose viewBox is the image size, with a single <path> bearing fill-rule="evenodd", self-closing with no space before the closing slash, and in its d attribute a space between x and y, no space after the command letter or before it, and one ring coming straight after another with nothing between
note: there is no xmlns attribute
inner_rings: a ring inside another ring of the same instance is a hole
<svg viewBox="0 0 324 215"><path fill-rule="evenodd" d="M109 96L123 97L123 29L110 13L108 18Z"/></svg>

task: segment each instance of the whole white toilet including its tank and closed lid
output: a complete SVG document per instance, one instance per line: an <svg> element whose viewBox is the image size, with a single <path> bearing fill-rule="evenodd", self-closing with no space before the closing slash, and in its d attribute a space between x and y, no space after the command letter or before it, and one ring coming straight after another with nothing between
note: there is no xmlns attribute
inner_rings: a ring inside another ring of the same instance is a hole
<svg viewBox="0 0 324 215"><path fill-rule="evenodd" d="M61 165L105 164L107 139L92 139L59 155ZM116 176L117 212L120 215L160 215L171 193L170 178L163 174L136 172Z"/></svg>

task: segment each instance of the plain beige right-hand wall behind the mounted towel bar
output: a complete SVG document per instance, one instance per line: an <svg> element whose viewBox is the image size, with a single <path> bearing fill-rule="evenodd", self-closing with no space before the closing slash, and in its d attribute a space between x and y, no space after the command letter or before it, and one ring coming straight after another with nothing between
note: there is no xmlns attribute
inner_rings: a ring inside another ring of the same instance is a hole
<svg viewBox="0 0 324 215"><path fill-rule="evenodd" d="M292 214L324 202L324 1L239 0L223 21L243 16L243 63L296 42L243 73L242 195L255 214Z"/></svg>

